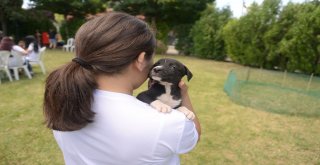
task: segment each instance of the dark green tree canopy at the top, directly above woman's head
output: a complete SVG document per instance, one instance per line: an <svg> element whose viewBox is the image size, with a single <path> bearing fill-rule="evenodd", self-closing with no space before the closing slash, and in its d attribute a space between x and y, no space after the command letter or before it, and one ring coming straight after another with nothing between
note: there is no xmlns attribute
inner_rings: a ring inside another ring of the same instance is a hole
<svg viewBox="0 0 320 165"><path fill-rule="evenodd" d="M143 14L156 25L165 22L169 26L194 23L205 9L206 4L214 0L126 0L114 3L116 10L133 15Z"/></svg>

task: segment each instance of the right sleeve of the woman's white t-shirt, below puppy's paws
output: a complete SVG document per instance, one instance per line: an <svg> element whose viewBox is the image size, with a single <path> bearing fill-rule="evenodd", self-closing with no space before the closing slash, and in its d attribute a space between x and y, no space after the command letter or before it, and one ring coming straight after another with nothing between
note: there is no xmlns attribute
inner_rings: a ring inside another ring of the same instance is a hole
<svg viewBox="0 0 320 165"><path fill-rule="evenodd" d="M156 151L161 155L165 151L183 154L191 151L198 142L198 132L193 121L181 112L173 111L166 115L159 135Z"/></svg>

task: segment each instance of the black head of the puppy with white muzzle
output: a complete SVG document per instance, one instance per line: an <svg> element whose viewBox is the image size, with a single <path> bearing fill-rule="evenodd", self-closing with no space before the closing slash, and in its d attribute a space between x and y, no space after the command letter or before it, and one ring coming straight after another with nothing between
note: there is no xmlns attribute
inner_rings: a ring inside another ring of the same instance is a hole
<svg viewBox="0 0 320 165"><path fill-rule="evenodd" d="M149 76L159 82L178 84L185 75L188 81L192 78L192 73L185 65L177 60L164 58L153 65Z"/></svg>

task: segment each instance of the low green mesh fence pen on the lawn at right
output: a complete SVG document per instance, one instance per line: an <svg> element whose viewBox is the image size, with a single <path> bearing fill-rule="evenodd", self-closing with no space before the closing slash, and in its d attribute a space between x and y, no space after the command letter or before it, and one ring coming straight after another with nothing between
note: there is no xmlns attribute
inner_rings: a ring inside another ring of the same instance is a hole
<svg viewBox="0 0 320 165"><path fill-rule="evenodd" d="M263 69L231 70L224 86L232 101L274 113L320 117L320 77Z"/></svg>

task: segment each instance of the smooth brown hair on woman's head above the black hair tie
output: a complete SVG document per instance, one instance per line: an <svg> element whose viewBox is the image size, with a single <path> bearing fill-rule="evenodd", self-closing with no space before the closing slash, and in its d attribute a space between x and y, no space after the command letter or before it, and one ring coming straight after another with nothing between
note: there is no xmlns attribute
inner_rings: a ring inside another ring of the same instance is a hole
<svg viewBox="0 0 320 165"><path fill-rule="evenodd" d="M145 22L117 12L91 19L75 37L77 57L90 64L95 73L119 73L142 52L149 60L155 45Z"/></svg>

